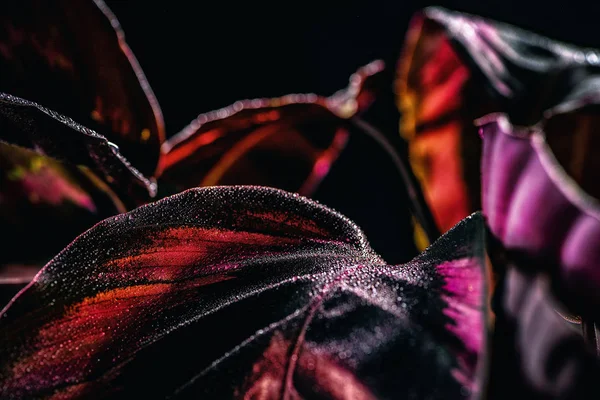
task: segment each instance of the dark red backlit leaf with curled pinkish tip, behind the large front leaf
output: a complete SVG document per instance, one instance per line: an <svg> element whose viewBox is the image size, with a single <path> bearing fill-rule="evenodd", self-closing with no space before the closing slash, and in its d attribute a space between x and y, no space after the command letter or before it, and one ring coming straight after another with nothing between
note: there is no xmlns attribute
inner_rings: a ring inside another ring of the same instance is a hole
<svg viewBox="0 0 600 400"><path fill-rule="evenodd" d="M161 184L171 193L223 184L313 193L349 140L347 119L373 101L382 69L381 61L360 68L329 98L291 94L201 114L164 143Z"/></svg>

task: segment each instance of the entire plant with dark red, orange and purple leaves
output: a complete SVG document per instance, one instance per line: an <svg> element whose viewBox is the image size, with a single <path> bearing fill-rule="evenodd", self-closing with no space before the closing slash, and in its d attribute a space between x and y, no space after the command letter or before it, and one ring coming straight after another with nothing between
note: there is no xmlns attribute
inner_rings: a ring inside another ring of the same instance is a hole
<svg viewBox="0 0 600 400"><path fill-rule="evenodd" d="M358 119L390 89L379 61L171 136L102 1L0 21L0 397L595 398L594 51L415 16L415 179ZM354 163L400 172L412 261L315 201L364 138Z"/></svg>

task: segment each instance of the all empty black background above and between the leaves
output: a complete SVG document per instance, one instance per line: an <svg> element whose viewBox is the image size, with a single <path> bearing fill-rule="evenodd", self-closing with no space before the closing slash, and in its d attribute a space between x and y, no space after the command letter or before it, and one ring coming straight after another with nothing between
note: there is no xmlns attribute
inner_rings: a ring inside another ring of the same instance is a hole
<svg viewBox="0 0 600 400"><path fill-rule="evenodd" d="M158 97L169 136L199 113L236 100L294 92L329 95L345 87L359 66L383 59L390 87L369 118L397 140L393 67L411 16L428 5L600 47L600 4L584 1L107 3ZM397 146L405 151L403 142ZM388 261L406 261L415 249L404 189L389 162L384 165L378 153L362 147L349 149L317 197L354 219Z"/></svg>

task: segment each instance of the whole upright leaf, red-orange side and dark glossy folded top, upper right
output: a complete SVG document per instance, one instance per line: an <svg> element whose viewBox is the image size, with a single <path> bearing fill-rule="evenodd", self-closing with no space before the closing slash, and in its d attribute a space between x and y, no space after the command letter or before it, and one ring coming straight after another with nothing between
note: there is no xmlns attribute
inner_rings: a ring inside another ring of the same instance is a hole
<svg viewBox="0 0 600 400"><path fill-rule="evenodd" d="M473 120L503 112L516 125L546 125L568 173L597 192L598 52L514 26L427 8L399 63L402 133L442 229L479 208L480 141ZM566 131L571 131L565 134Z"/></svg>

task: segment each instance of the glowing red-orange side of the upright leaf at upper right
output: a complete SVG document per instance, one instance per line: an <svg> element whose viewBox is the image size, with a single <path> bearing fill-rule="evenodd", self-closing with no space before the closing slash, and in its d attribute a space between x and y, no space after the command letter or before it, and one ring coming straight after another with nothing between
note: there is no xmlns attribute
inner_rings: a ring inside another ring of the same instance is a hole
<svg viewBox="0 0 600 400"><path fill-rule="evenodd" d="M427 8L413 17L397 66L397 104L409 160L435 221L447 231L479 209L480 143L473 119L489 96L457 51L449 27Z"/></svg>

